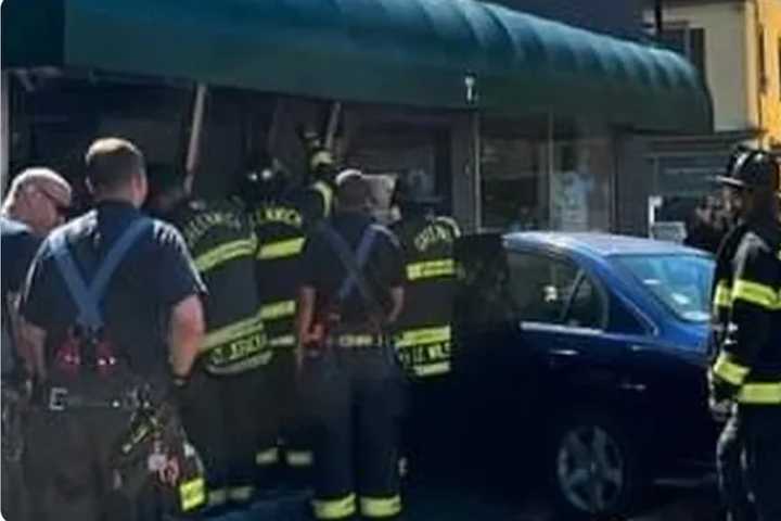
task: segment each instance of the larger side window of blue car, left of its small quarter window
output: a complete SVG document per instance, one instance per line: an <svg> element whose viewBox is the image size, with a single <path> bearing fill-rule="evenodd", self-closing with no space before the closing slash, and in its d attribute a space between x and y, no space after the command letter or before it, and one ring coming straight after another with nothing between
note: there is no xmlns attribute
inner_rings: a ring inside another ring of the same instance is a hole
<svg viewBox="0 0 781 521"><path fill-rule="evenodd" d="M518 319L563 325L578 283L578 267L564 259L535 253L511 252L510 290Z"/></svg>

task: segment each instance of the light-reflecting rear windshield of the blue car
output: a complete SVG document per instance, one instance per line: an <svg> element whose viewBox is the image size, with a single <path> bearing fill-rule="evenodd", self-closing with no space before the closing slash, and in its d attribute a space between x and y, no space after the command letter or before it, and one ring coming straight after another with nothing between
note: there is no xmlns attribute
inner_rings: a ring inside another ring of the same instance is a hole
<svg viewBox="0 0 781 521"><path fill-rule="evenodd" d="M710 319L714 262L704 255L617 255L614 259L678 318Z"/></svg>

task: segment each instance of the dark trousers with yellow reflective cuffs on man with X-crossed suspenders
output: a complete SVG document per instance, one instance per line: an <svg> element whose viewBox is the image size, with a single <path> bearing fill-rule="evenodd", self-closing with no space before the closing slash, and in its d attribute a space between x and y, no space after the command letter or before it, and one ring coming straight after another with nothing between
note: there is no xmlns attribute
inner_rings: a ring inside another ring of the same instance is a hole
<svg viewBox="0 0 781 521"><path fill-rule="evenodd" d="M400 513L401 376L389 350L334 348L307 359L317 519Z"/></svg>

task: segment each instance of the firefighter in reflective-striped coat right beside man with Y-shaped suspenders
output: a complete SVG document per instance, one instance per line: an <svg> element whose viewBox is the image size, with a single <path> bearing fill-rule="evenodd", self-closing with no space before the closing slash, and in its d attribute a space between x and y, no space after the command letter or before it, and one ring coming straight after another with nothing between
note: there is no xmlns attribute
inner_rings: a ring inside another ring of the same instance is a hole
<svg viewBox="0 0 781 521"><path fill-rule="evenodd" d="M159 169L151 208L174 224L208 290L206 336L183 396L182 420L207 471L208 506L246 504L255 492L256 444L276 445L268 348L255 290L257 239L243 208L192 198L185 178Z"/></svg>

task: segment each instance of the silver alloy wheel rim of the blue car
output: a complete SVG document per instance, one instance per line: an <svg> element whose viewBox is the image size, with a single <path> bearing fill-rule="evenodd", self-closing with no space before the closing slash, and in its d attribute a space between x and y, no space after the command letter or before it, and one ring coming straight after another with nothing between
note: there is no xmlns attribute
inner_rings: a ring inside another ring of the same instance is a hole
<svg viewBox="0 0 781 521"><path fill-rule="evenodd" d="M580 510L597 513L614 507L624 488L624 468L618 444L600 427L573 429L559 446L559 486Z"/></svg>

